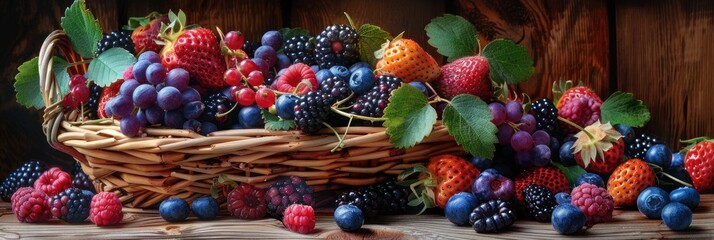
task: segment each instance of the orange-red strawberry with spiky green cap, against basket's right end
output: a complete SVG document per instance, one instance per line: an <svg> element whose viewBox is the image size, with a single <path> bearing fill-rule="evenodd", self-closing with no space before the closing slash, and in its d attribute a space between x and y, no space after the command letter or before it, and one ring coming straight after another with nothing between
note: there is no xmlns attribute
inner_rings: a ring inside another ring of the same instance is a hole
<svg viewBox="0 0 714 240"><path fill-rule="evenodd" d="M420 173L419 179L405 180L413 173ZM459 192L470 192L471 185L479 174L476 166L465 159L444 154L430 158L426 167L416 166L405 170L399 174L397 180L413 181L412 195L424 203L423 212L434 204L444 208L451 196Z"/></svg>

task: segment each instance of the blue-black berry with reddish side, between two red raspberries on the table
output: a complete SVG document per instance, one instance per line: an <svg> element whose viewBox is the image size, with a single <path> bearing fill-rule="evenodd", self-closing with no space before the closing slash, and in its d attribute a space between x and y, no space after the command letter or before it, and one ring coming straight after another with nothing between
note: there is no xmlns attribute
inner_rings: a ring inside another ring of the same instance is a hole
<svg viewBox="0 0 714 240"><path fill-rule="evenodd" d="M92 195L73 187L53 196L48 203L52 216L68 223L81 223L89 217Z"/></svg>

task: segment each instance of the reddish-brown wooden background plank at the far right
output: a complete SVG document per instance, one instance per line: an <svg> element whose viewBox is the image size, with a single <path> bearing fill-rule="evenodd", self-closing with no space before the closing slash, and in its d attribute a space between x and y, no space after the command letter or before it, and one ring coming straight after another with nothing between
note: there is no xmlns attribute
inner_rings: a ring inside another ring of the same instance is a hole
<svg viewBox="0 0 714 240"><path fill-rule="evenodd" d="M649 107L644 131L671 147L714 136L714 2L617 1L617 88Z"/></svg>

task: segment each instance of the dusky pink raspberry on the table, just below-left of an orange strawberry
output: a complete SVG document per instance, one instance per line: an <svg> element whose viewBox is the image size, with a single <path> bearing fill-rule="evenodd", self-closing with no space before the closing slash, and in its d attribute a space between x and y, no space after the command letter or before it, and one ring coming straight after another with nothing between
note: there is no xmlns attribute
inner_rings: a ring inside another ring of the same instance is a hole
<svg viewBox="0 0 714 240"><path fill-rule="evenodd" d="M615 201L604 188L589 183L583 183L575 187L570 193L571 203L585 213L587 224L610 221L612 210L615 208Z"/></svg>

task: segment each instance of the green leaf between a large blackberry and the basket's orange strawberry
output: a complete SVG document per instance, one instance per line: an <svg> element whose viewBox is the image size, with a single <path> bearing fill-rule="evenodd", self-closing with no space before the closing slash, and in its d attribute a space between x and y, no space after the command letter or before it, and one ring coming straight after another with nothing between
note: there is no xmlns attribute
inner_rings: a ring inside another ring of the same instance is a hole
<svg viewBox="0 0 714 240"><path fill-rule="evenodd" d="M363 24L359 27L359 30L357 30L357 34L359 35L360 60L368 63L370 66L377 65L375 52L381 49L382 44L389 41L392 37L379 26L372 24Z"/></svg>

